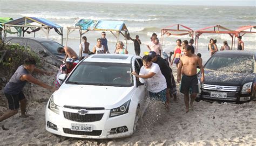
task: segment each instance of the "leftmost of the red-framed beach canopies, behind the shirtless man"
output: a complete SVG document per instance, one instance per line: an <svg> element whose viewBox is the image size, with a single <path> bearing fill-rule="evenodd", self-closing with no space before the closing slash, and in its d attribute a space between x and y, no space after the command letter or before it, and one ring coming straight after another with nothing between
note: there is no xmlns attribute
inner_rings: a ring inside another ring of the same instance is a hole
<svg viewBox="0 0 256 146"><path fill-rule="evenodd" d="M191 39L193 39L193 33L194 33L194 31L192 29L190 29L190 27L187 27L187 26L184 26L181 24L174 24L171 26L167 26L164 29L161 29L160 44L161 44L161 46L163 46L164 35L167 35L167 36L189 35L191 37Z"/></svg>

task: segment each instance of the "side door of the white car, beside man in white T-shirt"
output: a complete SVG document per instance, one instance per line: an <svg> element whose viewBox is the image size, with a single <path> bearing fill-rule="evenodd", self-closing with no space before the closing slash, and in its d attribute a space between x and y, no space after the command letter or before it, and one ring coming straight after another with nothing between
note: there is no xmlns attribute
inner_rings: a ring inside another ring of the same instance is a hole
<svg viewBox="0 0 256 146"><path fill-rule="evenodd" d="M142 59L137 58L134 60L134 70L139 74L140 68L142 67ZM144 111L145 109L145 99L146 99L146 86L142 84L138 78L136 78L134 84L136 84L136 91L134 95L138 97L140 103L140 109Z"/></svg>

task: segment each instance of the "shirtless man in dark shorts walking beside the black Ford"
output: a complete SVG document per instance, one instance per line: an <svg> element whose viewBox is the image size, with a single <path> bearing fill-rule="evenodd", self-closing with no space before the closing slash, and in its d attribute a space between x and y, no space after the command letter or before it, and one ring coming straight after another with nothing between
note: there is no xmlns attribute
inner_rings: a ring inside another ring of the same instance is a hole
<svg viewBox="0 0 256 146"><path fill-rule="evenodd" d="M180 58L178 65L177 81L181 80L180 92L184 94L184 102L186 106L186 113L189 111L189 89L192 89L192 95L190 100L190 106L193 108L193 102L198 93L198 79L197 79L197 64L201 71L201 82L204 82L205 73L202 62L196 54L191 53L192 46L187 45L183 51L184 55ZM183 77L181 79L181 68L183 68Z"/></svg>

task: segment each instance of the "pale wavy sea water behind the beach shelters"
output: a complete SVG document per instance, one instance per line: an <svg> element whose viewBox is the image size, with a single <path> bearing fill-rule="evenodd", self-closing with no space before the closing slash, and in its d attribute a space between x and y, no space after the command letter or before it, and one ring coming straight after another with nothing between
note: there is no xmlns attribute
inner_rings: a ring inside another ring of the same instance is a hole
<svg viewBox="0 0 256 146"><path fill-rule="evenodd" d="M110 4L110 3L85 3L85 2L48 2L48 1L3 1L0 5L0 17L12 17L14 19L28 17L40 17L49 19L56 24L63 26L63 45L66 42L67 26L73 26L79 19L93 20L121 20L124 21L130 36L135 38L138 34L142 41L141 56L143 52L149 51L146 44L150 43L153 32L158 34L160 39L161 29L174 24L182 24L192 30L199 30L207 26L222 25L228 29L235 30L244 25L256 24L255 6L195 6L195 5L148 5L148 4ZM8 34L15 36L16 34ZM96 45L97 38L101 37L101 31L89 31L85 33L90 43L90 50ZM25 33L25 37L33 37ZM36 32L36 37L46 38L43 31ZM106 32L109 44L109 51L114 52L117 39ZM207 45L209 40L217 39L217 46L220 49L223 41L227 40L231 46L231 37L228 34L201 34L198 40L198 53L202 54L204 62L210 57ZM50 31L49 39L61 42L61 37ZM189 40L191 37L170 36L164 37L163 49L166 52L173 51L176 40ZM124 41L120 36L119 40ZM245 50L256 52L256 34L245 34L242 37ZM237 40L235 40L237 43ZM77 53L79 51L79 31L69 35L68 46ZM125 41L124 41L125 42ZM235 45L235 50L237 44ZM133 41L127 41L127 50L134 53Z"/></svg>

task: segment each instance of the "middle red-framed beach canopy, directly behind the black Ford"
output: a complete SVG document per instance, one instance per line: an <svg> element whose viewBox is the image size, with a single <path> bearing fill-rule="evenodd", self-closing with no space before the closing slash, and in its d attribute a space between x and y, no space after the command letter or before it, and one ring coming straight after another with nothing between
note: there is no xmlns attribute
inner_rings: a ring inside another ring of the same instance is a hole
<svg viewBox="0 0 256 146"><path fill-rule="evenodd" d="M232 38L232 45L231 45L231 49L233 48L233 41L234 41L234 37L238 35L237 31L231 30L231 29L227 29L226 27L223 27L221 25L215 25L215 26L209 26L209 27L205 27L203 29L197 30L195 31L196 34L196 49L198 49L198 39L199 36L203 33L223 33L223 34L229 34L230 37Z"/></svg>

